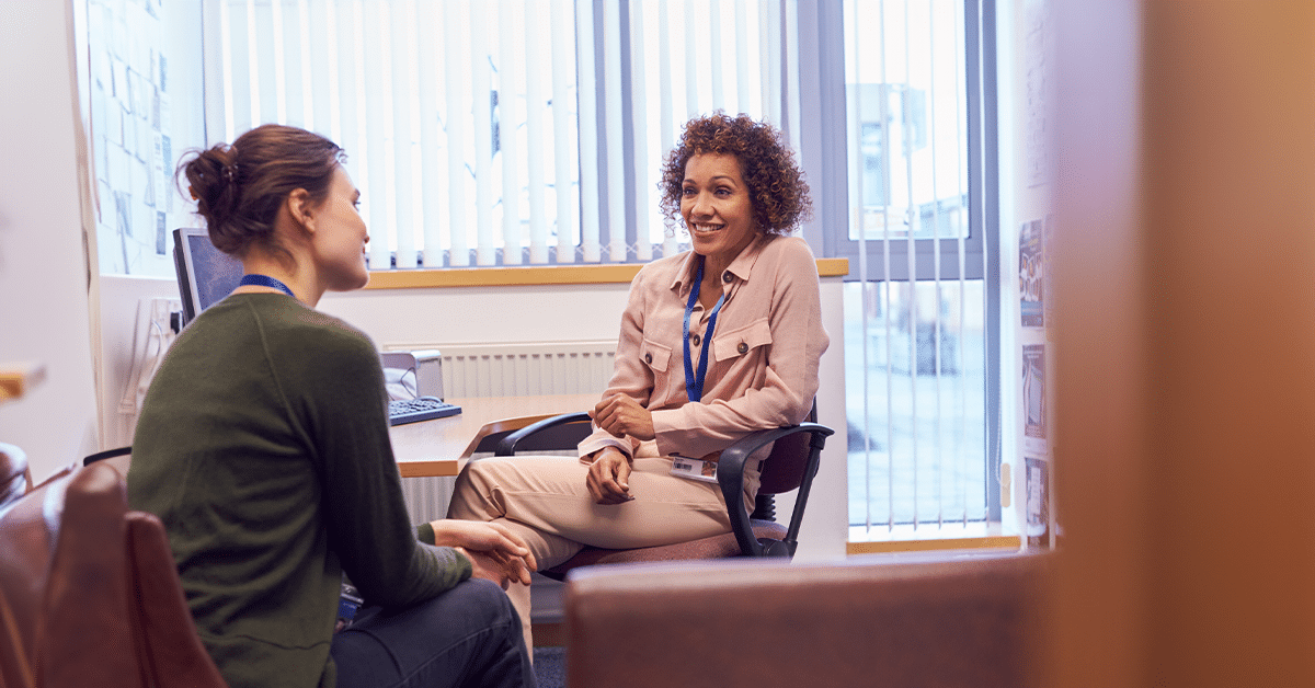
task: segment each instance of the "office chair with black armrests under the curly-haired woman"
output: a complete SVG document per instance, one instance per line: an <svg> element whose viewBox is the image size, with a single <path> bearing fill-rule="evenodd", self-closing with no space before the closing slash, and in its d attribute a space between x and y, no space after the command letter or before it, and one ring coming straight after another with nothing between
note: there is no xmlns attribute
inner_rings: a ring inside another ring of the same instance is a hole
<svg viewBox="0 0 1315 688"><path fill-rule="evenodd" d="M809 413L809 421L785 428L759 430L742 438L722 451L717 462L717 483L726 497L726 510L731 531L709 538L659 547L639 547L634 550L605 550L585 547L569 560L539 574L564 580L565 575L581 566L665 562L684 559L722 559L727 556L794 556L798 546L800 525L803 522L803 508L807 505L813 476L826 438L834 431L817 422L817 403ZM496 456L515 454L517 445L535 433L569 425L577 429L590 428L588 413L565 413L546 418L508 434L494 450ZM580 434L577 430L575 434ZM588 434L586 430L583 430ZM583 437L583 435L581 435ZM753 513L744 509L744 463L760 447L775 442L772 453L763 462L760 484ZM797 489L794 510L788 526L776 522L775 496Z"/></svg>

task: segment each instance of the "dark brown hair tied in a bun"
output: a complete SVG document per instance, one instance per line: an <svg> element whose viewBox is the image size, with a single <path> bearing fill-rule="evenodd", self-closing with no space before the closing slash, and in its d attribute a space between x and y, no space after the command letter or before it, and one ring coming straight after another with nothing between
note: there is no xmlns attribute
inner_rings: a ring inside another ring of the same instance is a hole
<svg viewBox="0 0 1315 688"><path fill-rule="evenodd" d="M210 241L224 253L242 257L255 243L287 254L274 237L279 205L304 188L314 204L329 196L334 168L346 153L327 138L277 124L251 129L231 146L218 143L192 151L179 162L205 218Z"/></svg>

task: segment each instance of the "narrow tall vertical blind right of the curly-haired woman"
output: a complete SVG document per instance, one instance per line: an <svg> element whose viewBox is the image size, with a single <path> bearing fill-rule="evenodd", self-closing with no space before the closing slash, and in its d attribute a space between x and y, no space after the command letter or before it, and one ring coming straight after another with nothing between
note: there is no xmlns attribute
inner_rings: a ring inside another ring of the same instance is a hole
<svg viewBox="0 0 1315 688"><path fill-rule="evenodd" d="M963 12L955 0L846 1L859 276L846 353L860 383L848 403L849 522L867 531L988 517Z"/></svg>

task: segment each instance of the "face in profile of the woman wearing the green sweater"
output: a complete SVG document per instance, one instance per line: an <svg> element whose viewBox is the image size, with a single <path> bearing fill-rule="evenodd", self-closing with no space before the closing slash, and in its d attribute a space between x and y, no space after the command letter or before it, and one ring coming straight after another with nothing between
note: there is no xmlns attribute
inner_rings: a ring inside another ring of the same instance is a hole
<svg viewBox="0 0 1315 688"><path fill-rule="evenodd" d="M366 245L370 232L356 207L360 191L342 166L334 168L329 196L314 209L312 250L326 289L359 289L370 282Z"/></svg>

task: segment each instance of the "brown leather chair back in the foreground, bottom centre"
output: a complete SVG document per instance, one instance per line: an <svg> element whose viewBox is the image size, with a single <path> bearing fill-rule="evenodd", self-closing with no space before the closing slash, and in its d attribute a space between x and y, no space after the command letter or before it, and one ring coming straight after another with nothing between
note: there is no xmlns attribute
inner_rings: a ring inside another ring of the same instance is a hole
<svg viewBox="0 0 1315 688"><path fill-rule="evenodd" d="M1043 685L1049 555L593 567L567 581L567 685Z"/></svg>

